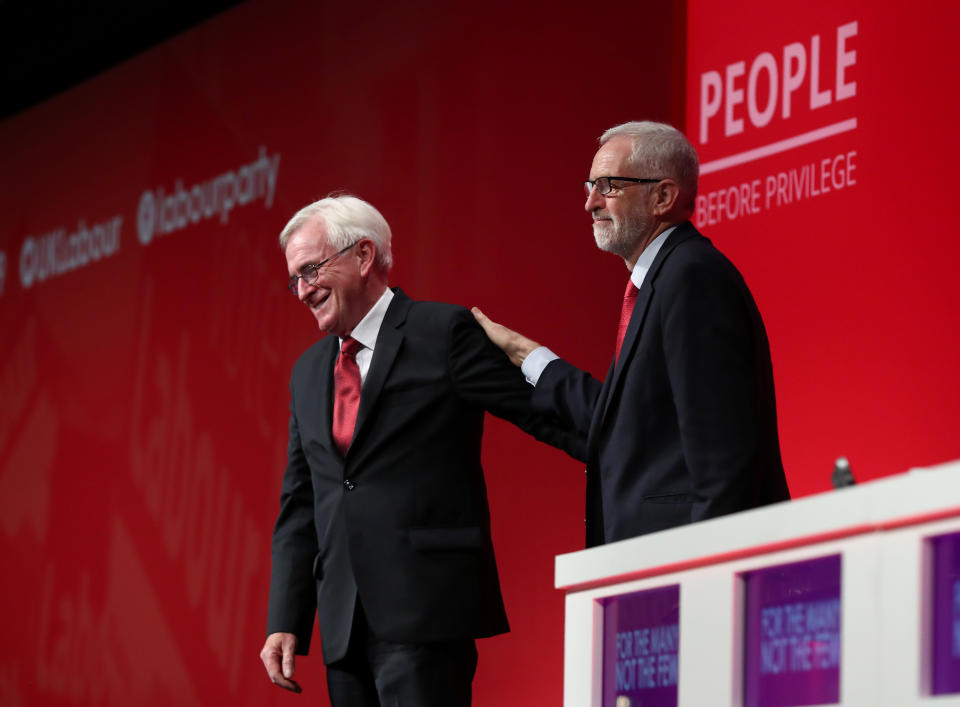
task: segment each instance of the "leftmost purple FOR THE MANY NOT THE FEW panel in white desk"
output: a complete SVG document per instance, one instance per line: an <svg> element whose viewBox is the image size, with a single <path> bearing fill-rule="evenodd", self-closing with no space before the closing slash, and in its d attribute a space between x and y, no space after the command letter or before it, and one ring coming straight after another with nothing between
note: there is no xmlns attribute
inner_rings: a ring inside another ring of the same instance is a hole
<svg viewBox="0 0 960 707"><path fill-rule="evenodd" d="M603 707L676 707L680 585L603 604Z"/></svg>

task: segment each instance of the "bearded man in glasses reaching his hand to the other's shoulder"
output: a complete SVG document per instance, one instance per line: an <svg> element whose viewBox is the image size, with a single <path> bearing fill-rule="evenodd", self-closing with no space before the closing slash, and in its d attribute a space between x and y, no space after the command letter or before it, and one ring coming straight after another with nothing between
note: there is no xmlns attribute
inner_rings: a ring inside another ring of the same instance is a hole
<svg viewBox="0 0 960 707"><path fill-rule="evenodd" d="M698 173L669 125L600 138L585 208L597 246L630 272L605 381L474 309L534 406L586 443L588 547L789 498L763 321L689 221Z"/></svg>

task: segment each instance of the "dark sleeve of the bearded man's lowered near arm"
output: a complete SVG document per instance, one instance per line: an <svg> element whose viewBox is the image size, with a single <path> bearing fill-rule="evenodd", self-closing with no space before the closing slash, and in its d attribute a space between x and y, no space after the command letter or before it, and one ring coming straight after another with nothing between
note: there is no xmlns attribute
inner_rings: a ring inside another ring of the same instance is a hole
<svg viewBox="0 0 960 707"><path fill-rule="evenodd" d="M658 293L693 520L739 510L759 443L752 298L727 263L686 264ZM645 414L656 414L651 410Z"/></svg>

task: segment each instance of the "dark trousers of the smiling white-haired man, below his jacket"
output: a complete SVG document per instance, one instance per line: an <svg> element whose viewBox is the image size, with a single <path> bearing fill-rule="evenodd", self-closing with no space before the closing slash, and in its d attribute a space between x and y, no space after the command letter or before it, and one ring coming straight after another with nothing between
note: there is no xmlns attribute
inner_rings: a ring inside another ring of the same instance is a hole
<svg viewBox="0 0 960 707"><path fill-rule="evenodd" d="M360 601L347 655L327 666L333 707L470 707L473 639L391 643L370 630Z"/></svg>

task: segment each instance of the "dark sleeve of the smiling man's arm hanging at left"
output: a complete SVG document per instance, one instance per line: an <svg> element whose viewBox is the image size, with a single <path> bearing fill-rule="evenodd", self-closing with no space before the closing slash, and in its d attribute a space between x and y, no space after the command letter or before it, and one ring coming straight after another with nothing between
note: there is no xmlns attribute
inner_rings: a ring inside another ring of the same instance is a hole
<svg viewBox="0 0 960 707"><path fill-rule="evenodd" d="M294 394L291 379L287 468L280 492L280 513L273 530L267 634L295 634L297 653L306 655L317 610L313 562L318 547L313 522L313 482L300 446Z"/></svg>

